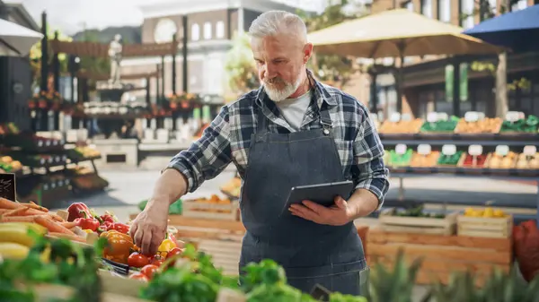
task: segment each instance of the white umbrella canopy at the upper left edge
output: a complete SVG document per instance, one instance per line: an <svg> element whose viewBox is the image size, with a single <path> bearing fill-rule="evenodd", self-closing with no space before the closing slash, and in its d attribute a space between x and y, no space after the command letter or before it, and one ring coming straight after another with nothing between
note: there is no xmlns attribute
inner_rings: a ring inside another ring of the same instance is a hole
<svg viewBox="0 0 539 302"><path fill-rule="evenodd" d="M43 35L0 19L0 56L26 56Z"/></svg>

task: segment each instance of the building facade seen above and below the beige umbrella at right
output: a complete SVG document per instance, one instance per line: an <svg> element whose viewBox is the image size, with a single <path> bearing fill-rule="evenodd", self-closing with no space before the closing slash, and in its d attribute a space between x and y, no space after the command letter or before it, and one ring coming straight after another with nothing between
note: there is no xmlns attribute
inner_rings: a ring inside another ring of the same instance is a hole
<svg viewBox="0 0 539 302"><path fill-rule="evenodd" d="M393 7L407 8L441 22L472 28L482 22L491 13L499 14L506 0L487 0L488 7L480 8L476 0L375 0L371 6L372 13L380 13ZM524 9L539 4L539 0L519 0L510 7L511 11ZM467 91L461 91L460 104L455 106L446 98L446 66L449 59L445 56L409 57L405 59L403 74L403 113L425 118L430 111L446 112L464 116L466 111L482 111L487 116L495 115L494 77L492 73L477 72L471 68L473 62L491 62L496 64L495 56L464 57L466 69ZM508 91L509 110L523 111L539 115L539 54L509 54L508 83L518 79L531 82L529 88ZM371 86L372 87L372 86ZM396 111L396 94L394 93L393 76L382 74L376 82L377 111L383 116L390 116ZM372 100L372 99L371 99Z"/></svg>

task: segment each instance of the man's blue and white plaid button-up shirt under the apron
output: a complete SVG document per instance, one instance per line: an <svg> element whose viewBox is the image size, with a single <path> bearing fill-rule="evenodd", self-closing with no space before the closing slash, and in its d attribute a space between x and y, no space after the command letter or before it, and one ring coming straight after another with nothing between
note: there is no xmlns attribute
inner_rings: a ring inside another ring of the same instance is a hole
<svg viewBox="0 0 539 302"><path fill-rule="evenodd" d="M367 108L336 88L316 81L314 85L317 104L312 103L307 108L300 131L320 126L318 108L329 110L344 176L353 180L356 188L365 188L375 194L381 207L389 188L389 171L382 160L384 146L368 117ZM195 191L205 180L216 177L231 162L243 177L248 165L251 135L258 124L258 110L270 119L270 132L293 132L278 107L264 99L267 99L265 92L259 89L224 106L202 137L189 150L172 158L167 168L175 168L187 178L189 192ZM327 106L322 107L323 102Z"/></svg>

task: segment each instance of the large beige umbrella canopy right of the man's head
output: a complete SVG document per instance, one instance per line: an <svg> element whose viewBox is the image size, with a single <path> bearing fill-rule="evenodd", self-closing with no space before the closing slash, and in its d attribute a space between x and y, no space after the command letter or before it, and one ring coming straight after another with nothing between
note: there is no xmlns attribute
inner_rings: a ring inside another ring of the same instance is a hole
<svg viewBox="0 0 539 302"><path fill-rule="evenodd" d="M318 30L314 51L367 58L499 53L503 49L462 34L463 29L397 9Z"/></svg>

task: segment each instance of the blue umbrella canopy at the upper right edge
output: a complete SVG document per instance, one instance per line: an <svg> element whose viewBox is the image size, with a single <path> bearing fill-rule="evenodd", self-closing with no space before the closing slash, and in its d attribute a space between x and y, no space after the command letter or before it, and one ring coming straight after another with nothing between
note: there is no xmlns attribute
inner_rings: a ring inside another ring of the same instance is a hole
<svg viewBox="0 0 539 302"><path fill-rule="evenodd" d="M515 52L539 51L539 4L481 22L464 34Z"/></svg>

